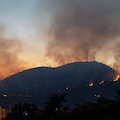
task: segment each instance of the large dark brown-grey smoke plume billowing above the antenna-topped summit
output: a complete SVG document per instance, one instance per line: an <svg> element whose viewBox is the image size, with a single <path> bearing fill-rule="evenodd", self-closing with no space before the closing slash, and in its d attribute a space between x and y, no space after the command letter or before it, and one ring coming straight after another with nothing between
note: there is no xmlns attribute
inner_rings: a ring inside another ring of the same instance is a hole
<svg viewBox="0 0 120 120"><path fill-rule="evenodd" d="M91 61L100 51L107 51L111 52L111 58L114 58L113 66L118 69L120 2L118 0L57 2L58 9L54 8L54 18L49 29L50 41L46 48L46 56L62 65L74 61ZM107 56L104 52L102 54Z"/></svg>

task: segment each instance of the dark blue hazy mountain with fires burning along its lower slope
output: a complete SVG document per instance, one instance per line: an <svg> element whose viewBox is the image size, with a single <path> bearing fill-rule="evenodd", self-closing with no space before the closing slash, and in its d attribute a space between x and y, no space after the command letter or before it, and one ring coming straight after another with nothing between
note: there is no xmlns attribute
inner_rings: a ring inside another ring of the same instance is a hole
<svg viewBox="0 0 120 120"><path fill-rule="evenodd" d="M114 69L98 62L75 62L60 67L38 67L19 72L0 81L1 104L34 102L43 106L51 94L66 92L70 103L94 100L100 95L113 98L119 86L113 82ZM99 83L104 80L104 83ZM111 82L110 82L111 80ZM93 83L93 86L89 86Z"/></svg>

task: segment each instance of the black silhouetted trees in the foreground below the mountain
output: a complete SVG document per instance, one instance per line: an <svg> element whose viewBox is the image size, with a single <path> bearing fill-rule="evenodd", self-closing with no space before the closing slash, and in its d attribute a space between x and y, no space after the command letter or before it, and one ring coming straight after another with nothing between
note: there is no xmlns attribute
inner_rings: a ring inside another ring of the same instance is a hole
<svg viewBox="0 0 120 120"><path fill-rule="evenodd" d="M18 103L12 108L5 120L119 120L120 119L120 89L114 100L104 97L96 102L83 101L82 104L69 106L62 105L67 102L66 94L50 96L43 109L34 104Z"/></svg>

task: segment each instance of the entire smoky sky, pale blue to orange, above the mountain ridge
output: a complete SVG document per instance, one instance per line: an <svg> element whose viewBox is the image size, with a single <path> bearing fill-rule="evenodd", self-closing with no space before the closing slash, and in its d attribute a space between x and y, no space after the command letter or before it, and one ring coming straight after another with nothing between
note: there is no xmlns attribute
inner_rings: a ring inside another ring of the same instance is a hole
<svg viewBox="0 0 120 120"><path fill-rule="evenodd" d="M0 0L0 80L29 68L102 62L120 72L119 0Z"/></svg>

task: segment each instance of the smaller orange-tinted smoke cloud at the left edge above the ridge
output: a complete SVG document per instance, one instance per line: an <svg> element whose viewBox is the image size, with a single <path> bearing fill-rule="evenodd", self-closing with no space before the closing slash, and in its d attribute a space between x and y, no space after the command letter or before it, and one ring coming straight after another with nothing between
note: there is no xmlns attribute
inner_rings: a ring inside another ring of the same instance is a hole
<svg viewBox="0 0 120 120"><path fill-rule="evenodd" d="M3 25L0 26L0 80L25 69L24 62L20 60L22 43L18 38L7 37Z"/></svg>

